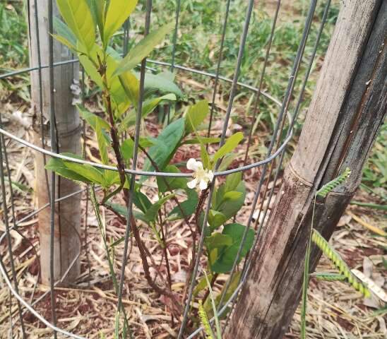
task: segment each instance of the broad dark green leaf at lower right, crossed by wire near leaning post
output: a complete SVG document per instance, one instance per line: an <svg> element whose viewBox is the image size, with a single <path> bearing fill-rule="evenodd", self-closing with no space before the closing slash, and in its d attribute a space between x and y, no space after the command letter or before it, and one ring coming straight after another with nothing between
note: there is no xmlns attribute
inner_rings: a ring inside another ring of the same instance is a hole
<svg viewBox="0 0 387 339"><path fill-rule="evenodd" d="M232 238L232 244L218 249L218 258L211 265L213 272L227 273L232 269L245 229L246 226L237 223L225 225L222 234L230 236ZM253 246L253 242L254 230L250 228L247 231L238 263L246 256L247 252L251 249L251 246Z"/></svg>

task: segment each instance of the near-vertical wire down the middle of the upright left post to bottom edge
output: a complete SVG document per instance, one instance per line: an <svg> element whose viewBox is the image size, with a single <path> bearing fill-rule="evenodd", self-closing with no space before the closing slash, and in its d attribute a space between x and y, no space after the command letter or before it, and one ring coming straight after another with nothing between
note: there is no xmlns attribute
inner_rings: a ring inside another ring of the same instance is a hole
<svg viewBox="0 0 387 339"><path fill-rule="evenodd" d="M49 41L49 135L51 139L51 150L57 152L56 131L55 131L55 107L54 107L54 40L53 8L52 0L48 1L48 41ZM56 304L54 290L54 237L55 237L55 187L56 175L51 174L51 196L50 196L50 239L49 239L49 287L51 290L51 313L52 323L56 326ZM56 331L54 330L54 339Z"/></svg>

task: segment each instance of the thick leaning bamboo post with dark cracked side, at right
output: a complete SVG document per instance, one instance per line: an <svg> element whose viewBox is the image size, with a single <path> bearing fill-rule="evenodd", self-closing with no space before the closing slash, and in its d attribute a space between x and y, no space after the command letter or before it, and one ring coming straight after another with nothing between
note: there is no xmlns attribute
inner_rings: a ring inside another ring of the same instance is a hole
<svg viewBox="0 0 387 339"><path fill-rule="evenodd" d="M386 117L386 29L386 1L343 2L298 147L225 338L278 339L287 331L302 292L316 189L345 167L352 170L345 186L318 203L314 226L328 239ZM311 270L319 256L314 249Z"/></svg>

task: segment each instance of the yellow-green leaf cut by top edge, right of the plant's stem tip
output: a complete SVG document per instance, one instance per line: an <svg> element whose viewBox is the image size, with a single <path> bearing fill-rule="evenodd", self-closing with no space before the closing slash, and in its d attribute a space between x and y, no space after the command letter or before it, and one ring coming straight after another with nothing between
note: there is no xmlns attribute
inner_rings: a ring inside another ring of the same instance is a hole
<svg viewBox="0 0 387 339"><path fill-rule="evenodd" d="M104 42L107 44L110 37L121 28L125 20L131 15L138 0L110 0L107 8Z"/></svg>

